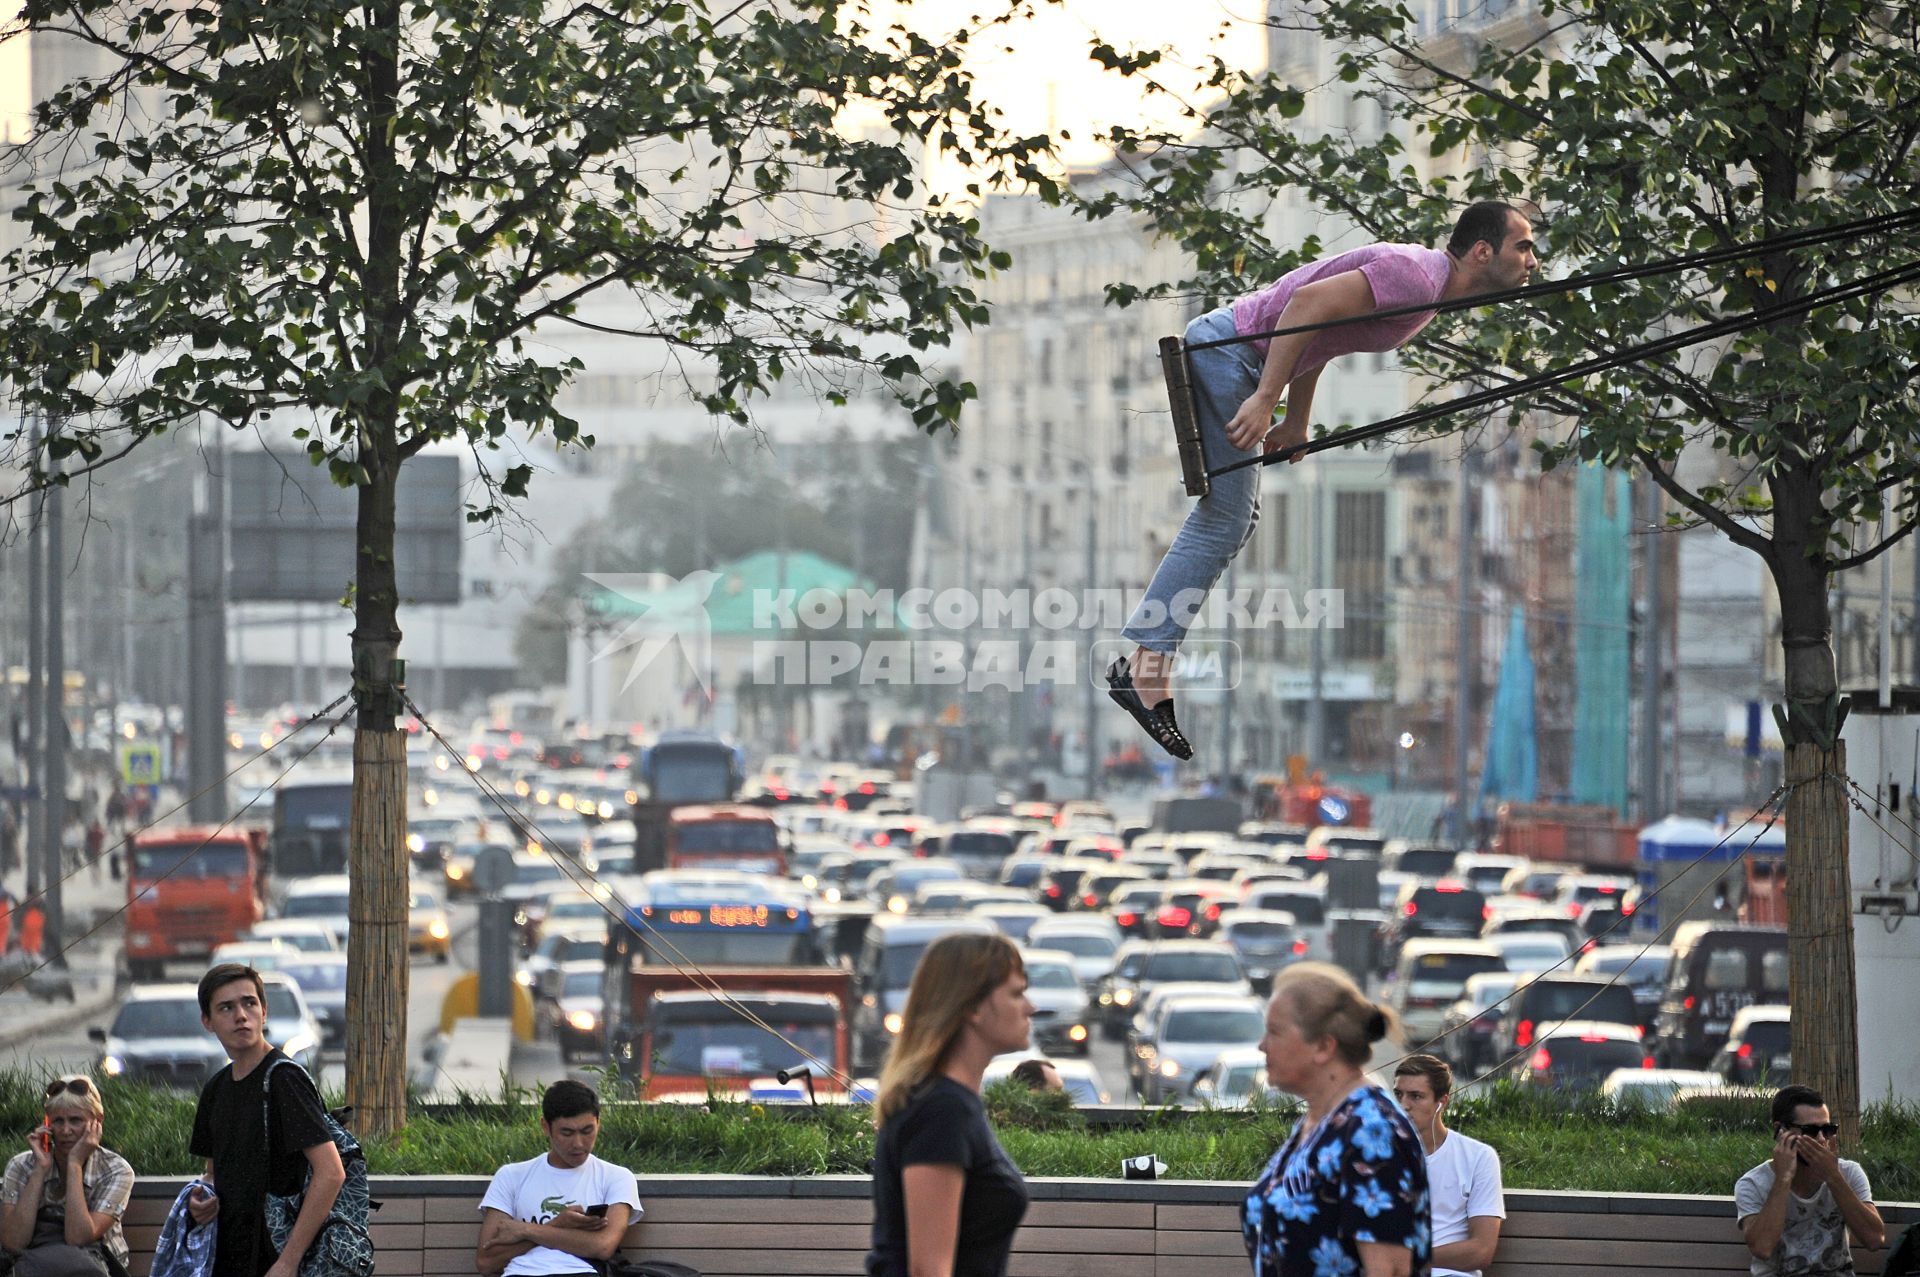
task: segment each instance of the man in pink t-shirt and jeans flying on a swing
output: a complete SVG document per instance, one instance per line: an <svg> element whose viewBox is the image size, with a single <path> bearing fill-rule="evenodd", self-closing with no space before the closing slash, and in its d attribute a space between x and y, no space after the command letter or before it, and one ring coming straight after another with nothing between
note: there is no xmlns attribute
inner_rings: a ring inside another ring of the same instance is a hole
<svg viewBox="0 0 1920 1277"><path fill-rule="evenodd" d="M1329 359L1404 346L1432 311L1361 319L1407 305L1442 305L1526 282L1536 267L1534 227L1511 204L1475 204L1446 250L1369 244L1288 271L1273 284L1187 325L1187 344L1344 323L1273 340L1244 338L1188 355L1194 413L1210 465L1273 453L1308 438L1313 386ZM1273 413L1286 399L1286 415ZM1192 745L1173 716L1173 659L1206 593L1254 534L1260 467L1213 480L1194 503L1121 634L1135 643L1106 672L1108 695L1175 759Z"/></svg>

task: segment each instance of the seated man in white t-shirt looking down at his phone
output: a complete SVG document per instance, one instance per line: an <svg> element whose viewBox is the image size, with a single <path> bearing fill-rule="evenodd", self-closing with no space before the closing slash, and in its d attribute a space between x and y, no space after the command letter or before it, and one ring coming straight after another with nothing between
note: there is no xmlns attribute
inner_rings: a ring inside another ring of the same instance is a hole
<svg viewBox="0 0 1920 1277"><path fill-rule="evenodd" d="M639 1219L634 1171L593 1156L599 1139L599 1095L578 1081L557 1081L540 1100L547 1152L493 1171L480 1198L484 1277L588 1277L601 1271L626 1225Z"/></svg>

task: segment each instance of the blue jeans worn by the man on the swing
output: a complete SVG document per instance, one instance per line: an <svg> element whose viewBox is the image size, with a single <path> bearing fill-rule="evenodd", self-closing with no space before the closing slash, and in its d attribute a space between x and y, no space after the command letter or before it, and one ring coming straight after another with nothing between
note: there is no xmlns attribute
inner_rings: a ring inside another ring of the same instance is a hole
<svg viewBox="0 0 1920 1277"><path fill-rule="evenodd" d="M1187 325L1188 342L1217 342L1235 336L1233 309L1210 311ZM1227 442L1227 422L1260 386L1265 363L1252 342L1215 346L1190 353L1194 415L1208 469L1252 457ZM1179 651L1194 611L1204 603L1227 563L1254 538L1260 522L1260 467L1221 474L1213 490L1194 501L1165 559L1154 570L1146 595L1121 636L1148 651Z"/></svg>

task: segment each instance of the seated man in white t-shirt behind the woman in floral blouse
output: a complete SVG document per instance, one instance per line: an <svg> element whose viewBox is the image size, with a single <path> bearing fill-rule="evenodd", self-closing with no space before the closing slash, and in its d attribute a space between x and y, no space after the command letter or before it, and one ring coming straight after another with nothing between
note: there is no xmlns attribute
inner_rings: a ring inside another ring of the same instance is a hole
<svg viewBox="0 0 1920 1277"><path fill-rule="evenodd" d="M1480 1269L1494 1262L1507 1198L1500 1187L1500 1154L1446 1129L1452 1096L1453 1070L1438 1056L1407 1056L1394 1070L1394 1100L1427 1150L1434 1277L1480 1277Z"/></svg>

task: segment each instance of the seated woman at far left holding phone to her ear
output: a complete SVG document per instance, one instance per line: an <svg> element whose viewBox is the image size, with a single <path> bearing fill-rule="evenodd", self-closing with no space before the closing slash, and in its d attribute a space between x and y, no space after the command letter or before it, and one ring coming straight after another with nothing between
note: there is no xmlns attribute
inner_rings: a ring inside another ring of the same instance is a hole
<svg viewBox="0 0 1920 1277"><path fill-rule="evenodd" d="M0 1250L13 1277L125 1277L127 1158L100 1146L106 1108L88 1077L56 1077L44 1121L0 1181Z"/></svg>

